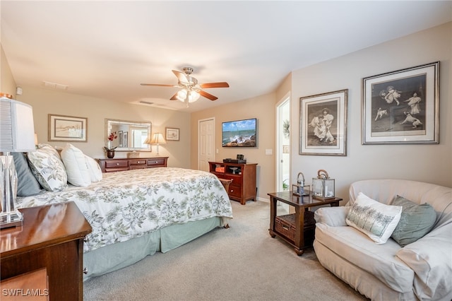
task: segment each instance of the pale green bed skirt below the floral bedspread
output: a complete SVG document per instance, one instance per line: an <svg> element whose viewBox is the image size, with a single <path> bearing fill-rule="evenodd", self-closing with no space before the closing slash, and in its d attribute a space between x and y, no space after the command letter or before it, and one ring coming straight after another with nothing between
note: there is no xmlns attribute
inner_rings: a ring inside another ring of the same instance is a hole
<svg viewBox="0 0 452 301"><path fill-rule="evenodd" d="M155 252L168 252L211 230L222 227L220 217L170 225L126 242L109 244L83 254L83 281L125 268Z"/></svg>

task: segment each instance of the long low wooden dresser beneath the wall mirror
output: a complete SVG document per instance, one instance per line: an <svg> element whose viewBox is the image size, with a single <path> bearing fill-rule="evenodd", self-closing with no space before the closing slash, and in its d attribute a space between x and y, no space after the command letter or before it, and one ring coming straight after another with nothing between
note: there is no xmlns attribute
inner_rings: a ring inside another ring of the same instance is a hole
<svg viewBox="0 0 452 301"><path fill-rule="evenodd" d="M154 167L167 167L168 157L97 159L102 172L121 172Z"/></svg>

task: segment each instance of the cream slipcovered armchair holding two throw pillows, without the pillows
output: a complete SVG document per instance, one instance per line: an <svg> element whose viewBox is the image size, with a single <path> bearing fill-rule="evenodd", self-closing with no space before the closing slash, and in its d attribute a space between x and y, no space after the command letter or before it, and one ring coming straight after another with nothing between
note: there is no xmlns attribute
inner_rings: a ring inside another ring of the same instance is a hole
<svg viewBox="0 0 452 301"><path fill-rule="evenodd" d="M377 244L346 223L359 192L388 205L397 196L429 203L436 213L432 230L405 247L393 238ZM403 179L359 181L350 186L346 206L319 208L315 218L314 250L320 263L362 295L452 300L452 188Z"/></svg>

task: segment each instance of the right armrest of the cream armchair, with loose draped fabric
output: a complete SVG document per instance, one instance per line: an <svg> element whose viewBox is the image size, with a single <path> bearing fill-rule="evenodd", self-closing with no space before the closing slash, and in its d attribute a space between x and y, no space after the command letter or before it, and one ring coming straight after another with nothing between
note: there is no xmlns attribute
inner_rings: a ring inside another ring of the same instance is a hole
<svg viewBox="0 0 452 301"><path fill-rule="evenodd" d="M420 300L451 300L452 223L442 225L396 256L415 271L415 294Z"/></svg>

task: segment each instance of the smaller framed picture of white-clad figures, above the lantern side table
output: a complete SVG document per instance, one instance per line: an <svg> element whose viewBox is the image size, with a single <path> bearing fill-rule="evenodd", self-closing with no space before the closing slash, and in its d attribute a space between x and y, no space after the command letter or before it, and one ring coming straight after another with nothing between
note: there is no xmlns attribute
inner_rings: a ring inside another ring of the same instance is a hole
<svg viewBox="0 0 452 301"><path fill-rule="evenodd" d="M347 155L348 89L299 99L300 155Z"/></svg>

